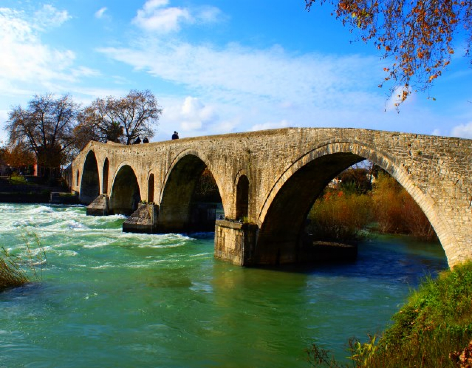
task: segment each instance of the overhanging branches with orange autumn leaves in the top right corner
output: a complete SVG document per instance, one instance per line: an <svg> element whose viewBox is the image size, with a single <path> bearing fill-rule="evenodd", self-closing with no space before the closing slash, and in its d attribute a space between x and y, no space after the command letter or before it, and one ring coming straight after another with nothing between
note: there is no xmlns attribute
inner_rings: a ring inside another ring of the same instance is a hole
<svg viewBox="0 0 472 368"><path fill-rule="evenodd" d="M391 61L385 82L397 104L412 92L428 91L455 53L453 40L465 30L466 55L472 42L472 1L462 0L305 0L329 3L334 15L364 42L373 41Z"/></svg>

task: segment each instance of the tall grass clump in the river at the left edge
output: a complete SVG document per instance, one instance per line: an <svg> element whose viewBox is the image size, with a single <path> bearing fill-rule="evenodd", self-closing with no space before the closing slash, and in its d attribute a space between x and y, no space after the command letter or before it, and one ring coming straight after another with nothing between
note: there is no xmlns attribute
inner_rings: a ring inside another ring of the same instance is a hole
<svg viewBox="0 0 472 368"><path fill-rule="evenodd" d="M24 255L12 254L4 247L0 249L0 292L42 278L41 268L37 268L46 261L46 254L37 235L26 232L21 238L25 244Z"/></svg>

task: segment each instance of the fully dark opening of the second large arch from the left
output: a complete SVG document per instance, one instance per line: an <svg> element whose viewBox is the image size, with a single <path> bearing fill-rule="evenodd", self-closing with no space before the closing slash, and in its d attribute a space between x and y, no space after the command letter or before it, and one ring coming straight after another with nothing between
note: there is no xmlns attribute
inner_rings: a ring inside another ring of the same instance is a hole
<svg viewBox="0 0 472 368"><path fill-rule="evenodd" d="M110 212L113 214L131 215L141 201L138 179L135 171L127 164L119 169L110 193Z"/></svg>

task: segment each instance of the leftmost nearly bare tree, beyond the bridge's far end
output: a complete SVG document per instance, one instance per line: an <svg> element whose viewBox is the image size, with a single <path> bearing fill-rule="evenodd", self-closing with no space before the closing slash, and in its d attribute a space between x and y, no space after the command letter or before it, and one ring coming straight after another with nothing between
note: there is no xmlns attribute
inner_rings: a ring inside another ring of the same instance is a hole
<svg viewBox="0 0 472 368"><path fill-rule="evenodd" d="M37 163L51 169L70 159L76 136L78 105L65 94L55 98L52 93L34 95L28 107L13 107L6 123L9 144L20 143L34 152Z"/></svg>

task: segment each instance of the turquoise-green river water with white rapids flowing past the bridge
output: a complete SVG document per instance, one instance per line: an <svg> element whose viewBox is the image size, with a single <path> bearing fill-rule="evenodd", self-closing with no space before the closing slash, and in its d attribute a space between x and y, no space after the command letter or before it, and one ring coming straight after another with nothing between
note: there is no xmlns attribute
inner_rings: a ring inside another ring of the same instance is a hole
<svg viewBox="0 0 472 368"><path fill-rule="evenodd" d="M240 268L213 258L213 234L123 234L123 221L0 204L0 246L25 254L28 231L47 254L41 283L0 293L0 367L308 367L312 342L345 357L447 267L440 245L382 237L354 263Z"/></svg>

